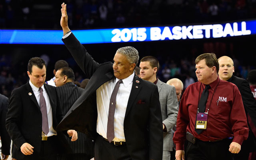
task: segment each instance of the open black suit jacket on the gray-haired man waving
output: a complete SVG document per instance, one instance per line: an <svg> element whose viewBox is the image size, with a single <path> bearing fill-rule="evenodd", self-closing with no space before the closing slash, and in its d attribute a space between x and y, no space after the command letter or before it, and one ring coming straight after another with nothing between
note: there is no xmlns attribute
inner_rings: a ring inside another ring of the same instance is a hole
<svg viewBox="0 0 256 160"><path fill-rule="evenodd" d="M63 42L90 80L57 129L74 128L96 138L96 90L115 78L113 64L95 62L73 34ZM124 117L124 136L133 160L162 159L163 131L158 88L137 76L134 76Z"/></svg>

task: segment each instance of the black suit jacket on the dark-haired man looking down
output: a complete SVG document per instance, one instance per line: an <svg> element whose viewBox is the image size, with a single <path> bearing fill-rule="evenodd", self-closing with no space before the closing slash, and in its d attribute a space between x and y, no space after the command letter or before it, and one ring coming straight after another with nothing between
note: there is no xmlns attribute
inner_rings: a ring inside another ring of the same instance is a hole
<svg viewBox="0 0 256 160"><path fill-rule="evenodd" d="M63 118L60 102L55 87L44 84L44 88L50 99L53 128L56 130L58 122ZM6 129L14 143L13 158L22 159L25 156L20 151L20 147L25 142L31 144L34 147L33 150L40 153L42 113L29 82L12 91L6 115ZM58 149L64 152L67 151L69 146L64 138L64 134L57 132L56 138L59 142L56 144Z"/></svg>

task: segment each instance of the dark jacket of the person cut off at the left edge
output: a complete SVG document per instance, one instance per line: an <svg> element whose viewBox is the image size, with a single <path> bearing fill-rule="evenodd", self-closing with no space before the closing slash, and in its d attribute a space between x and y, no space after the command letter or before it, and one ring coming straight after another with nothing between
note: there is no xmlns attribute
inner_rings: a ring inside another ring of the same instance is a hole
<svg viewBox="0 0 256 160"><path fill-rule="evenodd" d="M10 155L11 138L5 128L6 113L8 110L9 100L6 96L0 94L0 136L1 136L1 152L4 155Z"/></svg>

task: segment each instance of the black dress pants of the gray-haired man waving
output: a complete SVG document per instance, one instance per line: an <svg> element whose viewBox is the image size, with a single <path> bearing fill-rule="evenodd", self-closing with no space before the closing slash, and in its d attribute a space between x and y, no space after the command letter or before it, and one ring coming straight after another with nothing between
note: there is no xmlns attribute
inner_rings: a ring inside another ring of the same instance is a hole
<svg viewBox="0 0 256 160"><path fill-rule="evenodd" d="M95 160L132 160L128 154L126 144L115 146L98 135L94 144Z"/></svg>

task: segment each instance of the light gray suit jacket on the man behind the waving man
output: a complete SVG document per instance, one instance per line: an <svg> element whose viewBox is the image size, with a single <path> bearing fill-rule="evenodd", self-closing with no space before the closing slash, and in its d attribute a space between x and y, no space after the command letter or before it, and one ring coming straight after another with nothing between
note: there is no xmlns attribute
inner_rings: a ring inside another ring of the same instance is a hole
<svg viewBox="0 0 256 160"><path fill-rule="evenodd" d="M167 132L164 132L163 151L172 151L172 128L176 125L179 107L176 90L174 86L170 86L159 79L156 86L158 87L159 92L162 121L167 129Z"/></svg>

